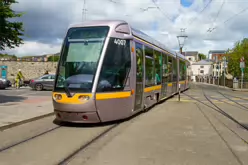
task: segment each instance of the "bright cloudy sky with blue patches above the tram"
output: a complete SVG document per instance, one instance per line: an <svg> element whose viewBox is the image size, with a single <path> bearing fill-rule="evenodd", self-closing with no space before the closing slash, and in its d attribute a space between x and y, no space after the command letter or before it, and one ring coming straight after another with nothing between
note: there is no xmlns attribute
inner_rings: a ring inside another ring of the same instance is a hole
<svg viewBox="0 0 248 165"><path fill-rule="evenodd" d="M84 21L84 0L18 2L13 9L25 12L19 19L24 23L25 42L6 49L10 54L57 53L68 26ZM248 32L248 0L86 0L86 8L86 20L126 20L174 50L178 50L180 28L186 28L188 35L184 50L205 54L232 48Z"/></svg>

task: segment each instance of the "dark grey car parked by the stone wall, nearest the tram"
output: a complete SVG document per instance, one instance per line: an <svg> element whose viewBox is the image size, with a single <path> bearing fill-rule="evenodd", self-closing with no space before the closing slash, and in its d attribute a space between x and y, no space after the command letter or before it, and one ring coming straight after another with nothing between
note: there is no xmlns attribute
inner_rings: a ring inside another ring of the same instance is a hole
<svg viewBox="0 0 248 165"><path fill-rule="evenodd" d="M55 74L43 75L36 79L31 79L29 86L37 91L44 89L52 90L54 85Z"/></svg>

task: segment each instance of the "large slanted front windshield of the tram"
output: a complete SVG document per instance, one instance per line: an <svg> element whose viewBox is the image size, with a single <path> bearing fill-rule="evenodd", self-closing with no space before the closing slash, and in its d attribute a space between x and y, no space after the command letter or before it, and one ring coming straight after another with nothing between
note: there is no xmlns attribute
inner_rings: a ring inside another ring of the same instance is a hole
<svg viewBox="0 0 248 165"><path fill-rule="evenodd" d="M91 92L109 27L69 29L59 61L55 89Z"/></svg>

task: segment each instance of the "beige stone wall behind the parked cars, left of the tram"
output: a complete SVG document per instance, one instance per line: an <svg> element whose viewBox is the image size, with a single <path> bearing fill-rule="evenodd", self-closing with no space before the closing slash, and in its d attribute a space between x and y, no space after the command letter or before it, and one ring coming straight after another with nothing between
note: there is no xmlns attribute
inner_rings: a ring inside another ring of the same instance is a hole
<svg viewBox="0 0 248 165"><path fill-rule="evenodd" d="M22 70L22 74L26 80L37 78L45 73L46 70L49 73L55 73L57 68L57 62L17 62L17 61L0 61L1 65L8 66L8 79L13 80L18 72L18 69Z"/></svg>

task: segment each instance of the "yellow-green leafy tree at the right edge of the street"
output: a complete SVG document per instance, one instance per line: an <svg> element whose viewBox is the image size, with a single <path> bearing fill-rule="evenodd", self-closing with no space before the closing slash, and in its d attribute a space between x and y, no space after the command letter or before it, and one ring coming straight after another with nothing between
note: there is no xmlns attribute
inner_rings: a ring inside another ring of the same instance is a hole
<svg viewBox="0 0 248 165"><path fill-rule="evenodd" d="M245 62L248 60L248 38L235 43L234 48L229 50L228 56L228 72L235 77L241 77L240 58L244 57ZM244 69L244 76L248 78L248 67Z"/></svg>

